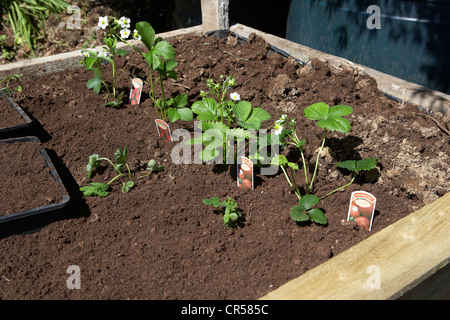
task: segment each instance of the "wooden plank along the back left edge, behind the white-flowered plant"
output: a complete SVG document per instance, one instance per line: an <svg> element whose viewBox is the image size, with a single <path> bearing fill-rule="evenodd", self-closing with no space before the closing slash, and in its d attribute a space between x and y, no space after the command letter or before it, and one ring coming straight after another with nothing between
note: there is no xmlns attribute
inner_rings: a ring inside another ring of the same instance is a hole
<svg viewBox="0 0 450 320"><path fill-rule="evenodd" d="M157 34L158 37L163 39L169 39L176 36L186 34L201 34L201 26L194 26L185 29L177 29L174 31L164 32ZM136 45L137 47L143 47L142 42L131 40L129 43ZM98 46L95 49L99 51L102 46ZM129 50L129 47L125 43L118 43L117 48L123 48ZM23 74L24 77L28 76L43 76L62 70L74 70L80 68L79 64L79 50L56 54L48 57L30 59L19 61L15 63L5 64L0 66L0 79L7 77L11 74Z"/></svg>

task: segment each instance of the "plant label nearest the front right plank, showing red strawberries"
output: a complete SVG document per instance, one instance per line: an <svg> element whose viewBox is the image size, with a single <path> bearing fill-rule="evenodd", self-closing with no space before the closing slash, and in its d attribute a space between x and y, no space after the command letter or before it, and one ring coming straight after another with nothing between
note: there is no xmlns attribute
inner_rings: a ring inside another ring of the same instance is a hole
<svg viewBox="0 0 450 320"><path fill-rule="evenodd" d="M366 191L352 192L347 221L355 221L359 226L371 231L376 202L377 199Z"/></svg>

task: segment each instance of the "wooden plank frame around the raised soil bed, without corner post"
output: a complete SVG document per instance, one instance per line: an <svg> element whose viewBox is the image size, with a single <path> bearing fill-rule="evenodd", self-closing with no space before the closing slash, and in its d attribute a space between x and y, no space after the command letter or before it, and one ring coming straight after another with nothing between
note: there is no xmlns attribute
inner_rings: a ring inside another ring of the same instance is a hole
<svg viewBox="0 0 450 320"><path fill-rule="evenodd" d="M206 1L205 1L206 2ZM203 5L203 4L202 4ZM216 24L212 24L214 28ZM202 34L206 24L158 36L171 38ZM450 97L417 84L354 64L348 60L236 24L230 31L247 38L251 33L294 58L317 58L335 72L358 69L378 82L379 89L426 110L450 113ZM137 44L137 43L136 43ZM121 44L123 45L123 44ZM125 45L123 45L125 47ZM79 68L78 52L0 66L0 77L11 73L44 75ZM411 213L327 262L291 280L262 299L447 299L450 298L450 194Z"/></svg>

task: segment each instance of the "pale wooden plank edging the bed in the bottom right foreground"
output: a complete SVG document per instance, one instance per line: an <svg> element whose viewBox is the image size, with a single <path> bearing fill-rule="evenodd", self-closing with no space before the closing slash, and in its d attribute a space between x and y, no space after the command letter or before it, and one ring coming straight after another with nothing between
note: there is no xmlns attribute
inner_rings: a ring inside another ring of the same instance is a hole
<svg viewBox="0 0 450 320"><path fill-rule="evenodd" d="M450 193L261 299L400 298L448 266L449 230Z"/></svg>

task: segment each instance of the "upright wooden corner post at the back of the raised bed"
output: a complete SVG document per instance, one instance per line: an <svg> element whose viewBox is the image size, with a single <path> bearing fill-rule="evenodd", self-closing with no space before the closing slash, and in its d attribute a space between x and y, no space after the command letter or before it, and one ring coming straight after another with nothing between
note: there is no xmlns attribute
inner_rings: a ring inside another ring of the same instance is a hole
<svg viewBox="0 0 450 320"><path fill-rule="evenodd" d="M230 29L229 0L202 0L202 33Z"/></svg>

